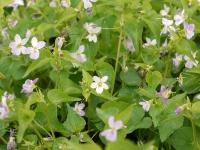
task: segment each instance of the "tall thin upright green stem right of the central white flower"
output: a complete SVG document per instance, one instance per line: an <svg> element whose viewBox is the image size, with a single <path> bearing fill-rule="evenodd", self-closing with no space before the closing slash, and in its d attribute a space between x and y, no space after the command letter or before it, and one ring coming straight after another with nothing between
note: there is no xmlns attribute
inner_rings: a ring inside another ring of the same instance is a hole
<svg viewBox="0 0 200 150"><path fill-rule="evenodd" d="M123 18L121 19L121 21L123 21ZM116 74L117 74L117 69L118 69L118 64L119 64L119 54L120 54L121 43L122 43L122 27L123 27L123 22L122 22L121 29L120 29L119 42L118 42L118 47L117 47L117 56L116 56L116 62L115 62L114 81L113 81L113 85L112 85L111 94L113 94L113 92L114 92L115 79L116 79Z"/></svg>

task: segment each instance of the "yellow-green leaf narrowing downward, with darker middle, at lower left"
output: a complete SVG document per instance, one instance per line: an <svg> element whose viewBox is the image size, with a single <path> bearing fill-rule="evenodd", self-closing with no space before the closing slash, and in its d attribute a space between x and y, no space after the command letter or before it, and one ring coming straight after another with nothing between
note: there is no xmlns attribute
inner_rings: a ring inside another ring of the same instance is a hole
<svg viewBox="0 0 200 150"><path fill-rule="evenodd" d="M23 139L24 132L28 128L28 126L31 124L32 120L35 117L35 112L32 110L27 109L21 109L18 112L18 122L19 122L19 128L17 132L17 142L20 143Z"/></svg>

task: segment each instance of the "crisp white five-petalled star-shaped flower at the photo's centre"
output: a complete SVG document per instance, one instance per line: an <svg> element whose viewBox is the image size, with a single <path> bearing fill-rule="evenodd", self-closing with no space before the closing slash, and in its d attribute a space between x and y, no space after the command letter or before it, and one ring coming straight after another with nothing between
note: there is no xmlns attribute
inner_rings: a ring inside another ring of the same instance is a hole
<svg viewBox="0 0 200 150"><path fill-rule="evenodd" d="M102 78L93 76L93 81L90 87L96 89L98 94L101 94L104 89L109 89L108 85L105 83L108 80L108 76L103 76Z"/></svg>

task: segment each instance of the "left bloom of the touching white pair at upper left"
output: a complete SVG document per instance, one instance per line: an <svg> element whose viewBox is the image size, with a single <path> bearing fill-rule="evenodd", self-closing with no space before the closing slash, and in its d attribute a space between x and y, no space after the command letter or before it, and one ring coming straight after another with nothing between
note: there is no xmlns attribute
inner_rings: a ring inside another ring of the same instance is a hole
<svg viewBox="0 0 200 150"><path fill-rule="evenodd" d="M26 54L26 47L25 44L28 42L28 40L21 39L19 34L15 35L15 41L12 41L9 45L11 48L11 52L13 55L19 56L21 53Z"/></svg>

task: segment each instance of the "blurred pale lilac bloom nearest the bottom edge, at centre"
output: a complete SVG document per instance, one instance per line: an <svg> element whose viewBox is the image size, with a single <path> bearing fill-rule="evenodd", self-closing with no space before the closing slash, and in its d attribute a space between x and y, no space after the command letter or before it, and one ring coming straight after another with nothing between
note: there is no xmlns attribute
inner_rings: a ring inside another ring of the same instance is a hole
<svg viewBox="0 0 200 150"><path fill-rule="evenodd" d="M121 120L115 121L113 116L108 118L109 129L100 133L101 136L105 136L106 140L114 142L117 140L117 131L124 127Z"/></svg>

